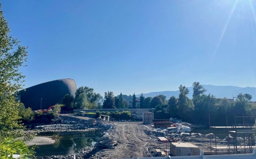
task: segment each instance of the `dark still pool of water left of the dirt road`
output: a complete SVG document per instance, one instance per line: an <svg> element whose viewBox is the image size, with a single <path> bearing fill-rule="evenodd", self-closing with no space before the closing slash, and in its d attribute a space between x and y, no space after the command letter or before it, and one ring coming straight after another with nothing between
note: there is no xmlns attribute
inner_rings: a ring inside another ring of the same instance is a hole
<svg viewBox="0 0 256 159"><path fill-rule="evenodd" d="M40 136L50 136L55 143L50 145L39 145L35 149L37 156L51 155L70 155L74 153L75 148L81 149L91 146L96 142L96 137L100 136L99 132L73 132L73 133L41 133Z"/></svg>

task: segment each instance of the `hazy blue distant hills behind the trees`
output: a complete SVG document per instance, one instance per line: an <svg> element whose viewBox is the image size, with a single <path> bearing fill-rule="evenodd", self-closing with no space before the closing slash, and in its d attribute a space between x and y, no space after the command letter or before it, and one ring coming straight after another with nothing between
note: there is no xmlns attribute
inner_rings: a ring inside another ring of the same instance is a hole
<svg viewBox="0 0 256 159"><path fill-rule="evenodd" d="M206 94L212 94L217 98L233 98L233 96L237 96L240 92L245 94L251 94L252 95L252 99L251 101L256 101L256 87L238 87L238 86L217 86L217 85L204 85L205 89L207 89ZM193 94L193 87L190 86L188 87L189 89L189 98L192 98L192 94ZM159 94L163 94L165 96L167 96L167 99L169 99L171 96L179 96L179 90L176 91L156 91L156 92L150 92L150 93L143 93L143 95L145 97L154 97L157 96ZM141 94L136 95L137 97L140 97Z"/></svg>

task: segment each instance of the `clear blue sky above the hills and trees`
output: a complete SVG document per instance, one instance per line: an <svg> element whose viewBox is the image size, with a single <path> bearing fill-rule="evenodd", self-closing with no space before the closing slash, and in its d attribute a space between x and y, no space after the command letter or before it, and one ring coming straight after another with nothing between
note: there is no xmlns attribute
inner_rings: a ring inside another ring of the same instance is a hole
<svg viewBox="0 0 256 159"><path fill-rule="evenodd" d="M25 87L73 78L103 95L256 86L256 0L1 0L29 46Z"/></svg>

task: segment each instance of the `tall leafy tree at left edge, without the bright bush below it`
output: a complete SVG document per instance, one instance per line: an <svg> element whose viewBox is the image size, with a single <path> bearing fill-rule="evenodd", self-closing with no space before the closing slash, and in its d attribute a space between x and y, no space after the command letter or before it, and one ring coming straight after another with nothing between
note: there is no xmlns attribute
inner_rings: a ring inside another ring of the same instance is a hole
<svg viewBox="0 0 256 159"><path fill-rule="evenodd" d="M0 138L13 136L21 128L16 93L22 88L24 75L19 71L27 60L27 46L9 34L0 3Z"/></svg>

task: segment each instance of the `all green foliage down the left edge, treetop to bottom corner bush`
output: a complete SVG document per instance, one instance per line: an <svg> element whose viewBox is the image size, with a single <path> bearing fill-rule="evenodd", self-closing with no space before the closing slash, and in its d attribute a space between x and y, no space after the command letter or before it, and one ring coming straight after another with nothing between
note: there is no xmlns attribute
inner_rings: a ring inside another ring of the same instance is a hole
<svg viewBox="0 0 256 159"><path fill-rule="evenodd" d="M15 141L24 137L23 126L19 124L19 105L17 92L22 89L24 75L19 68L27 60L27 46L20 45L20 41L9 34L7 20L3 16L0 3L0 155L19 153L21 156L32 154L23 141Z"/></svg>

